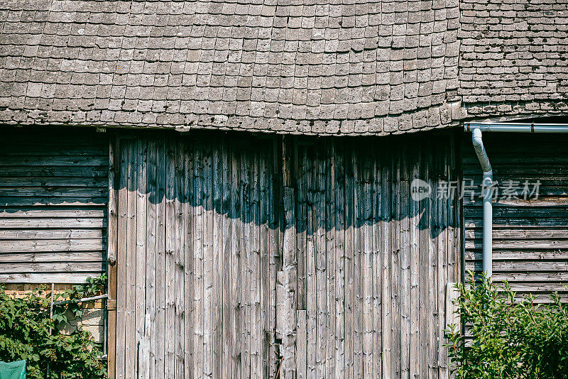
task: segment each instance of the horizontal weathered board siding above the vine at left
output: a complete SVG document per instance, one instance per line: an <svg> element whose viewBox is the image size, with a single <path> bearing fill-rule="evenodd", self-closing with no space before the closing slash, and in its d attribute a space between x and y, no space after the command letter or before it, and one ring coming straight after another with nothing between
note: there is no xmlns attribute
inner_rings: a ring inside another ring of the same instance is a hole
<svg viewBox="0 0 568 379"><path fill-rule="evenodd" d="M94 130L2 130L0 282L84 282L105 270L108 148Z"/></svg>

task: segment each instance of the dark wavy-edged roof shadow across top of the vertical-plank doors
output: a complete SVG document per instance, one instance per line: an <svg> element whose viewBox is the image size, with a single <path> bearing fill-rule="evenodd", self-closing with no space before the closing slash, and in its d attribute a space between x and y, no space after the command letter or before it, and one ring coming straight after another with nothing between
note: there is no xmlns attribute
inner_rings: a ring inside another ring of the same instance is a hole
<svg viewBox="0 0 568 379"><path fill-rule="evenodd" d="M429 229L435 238L456 226L459 195L447 186L458 180L453 133L290 141L298 233L408 220L401 230ZM214 211L277 229L284 224L281 143L279 136L241 133L123 134L115 158L117 198L126 204L133 193L146 197L146 213L195 218ZM430 189L422 199L410 193L415 179Z"/></svg>

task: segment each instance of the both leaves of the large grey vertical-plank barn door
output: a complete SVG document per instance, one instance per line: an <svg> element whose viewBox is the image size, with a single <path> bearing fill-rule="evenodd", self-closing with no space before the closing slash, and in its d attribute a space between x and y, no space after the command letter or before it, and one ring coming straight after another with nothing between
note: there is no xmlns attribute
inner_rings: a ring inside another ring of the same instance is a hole
<svg viewBox="0 0 568 379"><path fill-rule="evenodd" d="M447 378L453 153L447 135L121 138L111 375Z"/></svg>

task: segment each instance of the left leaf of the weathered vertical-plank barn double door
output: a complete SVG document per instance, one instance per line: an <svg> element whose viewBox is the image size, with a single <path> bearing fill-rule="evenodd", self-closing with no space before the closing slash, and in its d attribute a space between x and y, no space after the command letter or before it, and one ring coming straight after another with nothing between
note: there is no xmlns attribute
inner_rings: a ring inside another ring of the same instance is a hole
<svg viewBox="0 0 568 379"><path fill-rule="evenodd" d="M271 139L123 136L115 150L111 375L274 375Z"/></svg>

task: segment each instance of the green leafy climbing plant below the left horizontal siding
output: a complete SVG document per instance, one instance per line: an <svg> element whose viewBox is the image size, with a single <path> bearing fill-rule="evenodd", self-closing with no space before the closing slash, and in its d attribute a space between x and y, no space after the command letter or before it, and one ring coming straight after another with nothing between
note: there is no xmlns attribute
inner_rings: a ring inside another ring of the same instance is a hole
<svg viewBox="0 0 568 379"><path fill-rule="evenodd" d="M75 286L60 298L99 295L104 281L102 277ZM14 298L0 286L0 361L25 359L30 379L106 378L106 362L91 334L81 329L62 334L56 328L58 322L67 321L65 313L80 314L80 306L72 302L54 307L50 318L50 296L42 288Z"/></svg>

